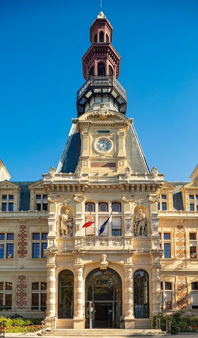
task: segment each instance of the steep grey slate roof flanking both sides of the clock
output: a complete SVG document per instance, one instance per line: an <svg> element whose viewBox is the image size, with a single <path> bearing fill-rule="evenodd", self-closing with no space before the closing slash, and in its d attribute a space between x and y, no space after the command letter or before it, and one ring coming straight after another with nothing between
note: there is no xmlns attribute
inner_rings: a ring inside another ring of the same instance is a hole
<svg viewBox="0 0 198 338"><path fill-rule="evenodd" d="M128 162L133 172L150 173L149 165L132 123L130 123L125 144ZM77 129L76 122L72 122L71 130L57 168L57 173L74 173L75 168L78 165L80 155L80 132Z"/></svg>

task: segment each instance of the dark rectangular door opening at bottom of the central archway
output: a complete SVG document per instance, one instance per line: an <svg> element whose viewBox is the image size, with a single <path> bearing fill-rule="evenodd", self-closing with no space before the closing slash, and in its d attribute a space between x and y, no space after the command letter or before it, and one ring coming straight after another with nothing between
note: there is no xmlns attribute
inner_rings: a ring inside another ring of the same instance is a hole
<svg viewBox="0 0 198 338"><path fill-rule="evenodd" d="M95 303L95 328L113 328L113 303Z"/></svg>

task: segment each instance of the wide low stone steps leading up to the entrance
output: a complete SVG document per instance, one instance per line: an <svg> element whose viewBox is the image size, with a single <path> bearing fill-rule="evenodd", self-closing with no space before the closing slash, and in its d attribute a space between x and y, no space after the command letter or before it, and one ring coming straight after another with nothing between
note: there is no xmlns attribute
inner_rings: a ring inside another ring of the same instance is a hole
<svg viewBox="0 0 198 338"><path fill-rule="evenodd" d="M46 329L46 334L39 336L45 338L139 338L139 337L167 337L170 336L166 334L165 331L155 330L155 329L142 329L142 330L124 330L124 329L84 329L84 330L74 330L74 329L56 329L50 330Z"/></svg>

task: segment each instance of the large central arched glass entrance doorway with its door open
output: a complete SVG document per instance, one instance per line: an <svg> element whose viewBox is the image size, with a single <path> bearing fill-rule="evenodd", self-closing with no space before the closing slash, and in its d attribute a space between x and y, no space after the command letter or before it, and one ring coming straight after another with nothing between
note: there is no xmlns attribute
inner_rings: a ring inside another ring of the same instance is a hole
<svg viewBox="0 0 198 338"><path fill-rule="evenodd" d="M85 281L86 328L120 328L122 280L113 269L92 270Z"/></svg>

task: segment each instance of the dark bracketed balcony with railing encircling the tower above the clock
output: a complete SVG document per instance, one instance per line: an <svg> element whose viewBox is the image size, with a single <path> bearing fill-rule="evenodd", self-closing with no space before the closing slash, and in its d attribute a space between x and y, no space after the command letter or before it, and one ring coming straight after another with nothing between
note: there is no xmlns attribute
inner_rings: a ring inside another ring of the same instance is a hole
<svg viewBox="0 0 198 338"><path fill-rule="evenodd" d="M78 117L94 103L111 102L122 114L126 114L127 91L113 75L91 75L77 92Z"/></svg>

